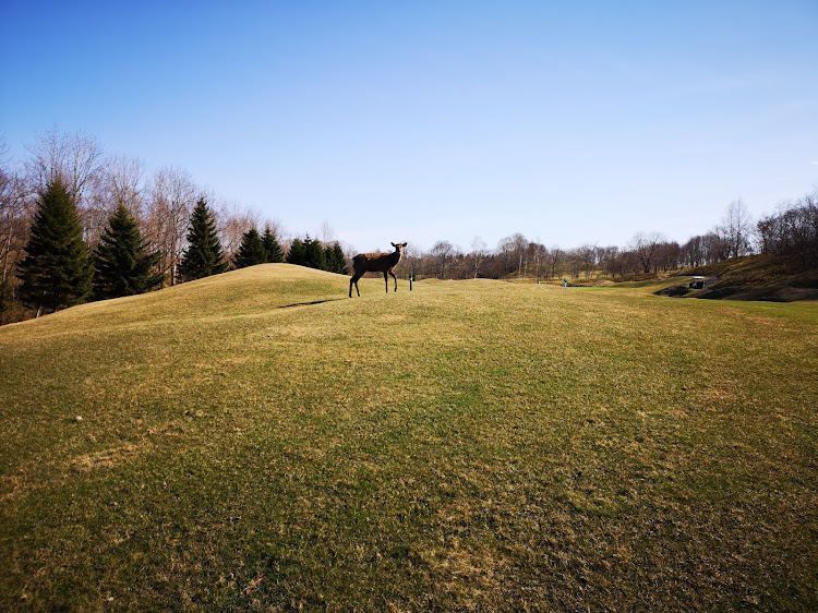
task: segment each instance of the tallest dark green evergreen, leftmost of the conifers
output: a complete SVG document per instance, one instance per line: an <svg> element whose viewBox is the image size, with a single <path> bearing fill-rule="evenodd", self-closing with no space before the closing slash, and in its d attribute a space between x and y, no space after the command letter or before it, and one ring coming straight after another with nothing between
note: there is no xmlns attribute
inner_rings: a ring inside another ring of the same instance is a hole
<svg viewBox="0 0 818 613"><path fill-rule="evenodd" d="M83 241L76 205L61 179L40 193L26 255L17 273L20 293L29 306L57 311L91 293L94 268Z"/></svg>

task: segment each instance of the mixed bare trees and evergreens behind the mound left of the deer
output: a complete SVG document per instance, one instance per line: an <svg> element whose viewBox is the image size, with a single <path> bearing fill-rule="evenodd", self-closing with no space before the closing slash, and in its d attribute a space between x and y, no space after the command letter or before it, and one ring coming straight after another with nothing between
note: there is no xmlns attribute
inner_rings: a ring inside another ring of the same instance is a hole
<svg viewBox="0 0 818 613"><path fill-rule="evenodd" d="M261 233L257 213L183 170L146 177L82 133L53 130L28 151L13 171L0 142L0 323L267 262L348 273L326 227L323 242L308 236L293 250L279 223Z"/></svg>

